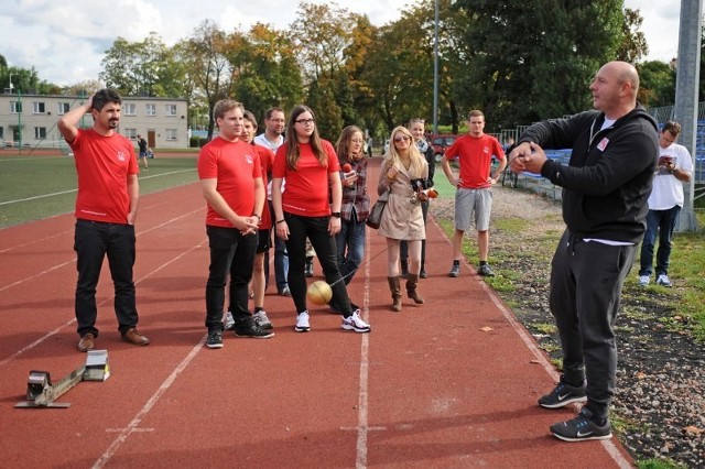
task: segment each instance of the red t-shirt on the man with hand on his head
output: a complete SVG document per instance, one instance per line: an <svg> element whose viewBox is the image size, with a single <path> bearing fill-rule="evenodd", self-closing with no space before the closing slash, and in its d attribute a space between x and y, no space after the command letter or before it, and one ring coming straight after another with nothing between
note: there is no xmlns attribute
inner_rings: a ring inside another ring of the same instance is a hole
<svg viewBox="0 0 705 469"><path fill-rule="evenodd" d="M132 142L119 133L79 129L70 148L78 175L76 218L127 225L128 176L140 172Z"/></svg>

